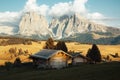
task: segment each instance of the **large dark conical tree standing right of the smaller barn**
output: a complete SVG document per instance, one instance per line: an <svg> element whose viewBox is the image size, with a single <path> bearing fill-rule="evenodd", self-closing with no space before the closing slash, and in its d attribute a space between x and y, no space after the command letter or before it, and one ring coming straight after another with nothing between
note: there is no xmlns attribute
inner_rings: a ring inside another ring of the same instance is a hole
<svg viewBox="0 0 120 80"><path fill-rule="evenodd" d="M91 50L88 50L88 53L86 55L88 58L90 58L92 61L96 62L101 62L101 54L100 50L96 46L96 44L92 45Z"/></svg>

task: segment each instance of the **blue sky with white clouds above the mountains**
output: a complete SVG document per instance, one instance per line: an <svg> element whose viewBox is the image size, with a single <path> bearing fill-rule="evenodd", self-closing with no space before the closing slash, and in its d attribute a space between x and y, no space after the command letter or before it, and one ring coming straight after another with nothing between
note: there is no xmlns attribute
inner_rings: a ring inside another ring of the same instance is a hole
<svg viewBox="0 0 120 80"><path fill-rule="evenodd" d="M19 24L23 13L29 11L45 17L79 13L98 24L120 28L119 4L120 0L0 0L0 31L9 28L10 32L14 28L12 26Z"/></svg>

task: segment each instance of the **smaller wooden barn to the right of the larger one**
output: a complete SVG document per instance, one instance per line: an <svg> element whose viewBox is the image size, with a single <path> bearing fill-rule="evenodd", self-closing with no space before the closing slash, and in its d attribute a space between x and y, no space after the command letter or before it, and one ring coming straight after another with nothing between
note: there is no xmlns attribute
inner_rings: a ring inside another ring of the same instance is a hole
<svg viewBox="0 0 120 80"><path fill-rule="evenodd" d="M87 57L83 56L79 52L72 53L72 64L77 65L79 63L86 63L88 61Z"/></svg>

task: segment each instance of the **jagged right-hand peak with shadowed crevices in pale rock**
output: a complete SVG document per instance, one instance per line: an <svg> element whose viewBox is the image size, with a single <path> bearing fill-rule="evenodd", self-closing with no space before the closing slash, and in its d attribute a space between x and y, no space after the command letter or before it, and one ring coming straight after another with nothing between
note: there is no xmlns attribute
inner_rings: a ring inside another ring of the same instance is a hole
<svg viewBox="0 0 120 80"><path fill-rule="evenodd" d="M54 18L50 23L50 28L57 38L68 37L74 33L107 31L105 26L94 24L82 18L79 14L62 16L59 19Z"/></svg>

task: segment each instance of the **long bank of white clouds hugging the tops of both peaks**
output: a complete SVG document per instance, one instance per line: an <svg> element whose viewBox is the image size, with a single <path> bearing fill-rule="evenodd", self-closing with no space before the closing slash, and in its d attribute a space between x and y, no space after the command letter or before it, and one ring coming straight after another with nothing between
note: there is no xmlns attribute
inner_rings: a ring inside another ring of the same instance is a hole
<svg viewBox="0 0 120 80"><path fill-rule="evenodd" d="M80 15L84 17L90 17L90 18L102 18L102 14L96 12L96 13L88 13L88 9L86 8L85 4L88 2L88 0L73 0L69 2L60 2L56 3L53 6L49 5L38 5L37 0L27 0L24 9L19 12L2 12L0 13L0 24L2 22L8 22L8 23L16 23L16 21L19 21L20 17L25 12L35 11L38 14L41 14L43 16L52 16L52 17L60 17L63 15L72 15L74 13L79 13ZM18 24L18 23L17 23Z"/></svg>

